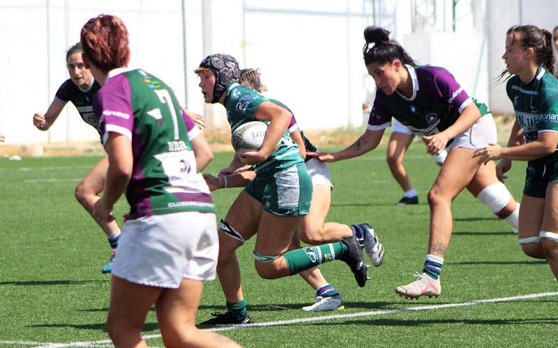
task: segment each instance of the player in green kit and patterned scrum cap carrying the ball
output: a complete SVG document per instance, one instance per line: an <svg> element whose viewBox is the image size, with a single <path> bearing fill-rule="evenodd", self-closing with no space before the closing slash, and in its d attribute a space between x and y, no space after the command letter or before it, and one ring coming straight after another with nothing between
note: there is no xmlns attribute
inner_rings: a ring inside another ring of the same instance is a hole
<svg viewBox="0 0 558 348"><path fill-rule="evenodd" d="M256 235L256 271L262 278L275 279L298 274L324 262L345 261L363 287L367 280L361 246L354 236L339 242L288 251L294 231L308 214L312 201L312 180L299 149L287 128L292 113L269 101L251 88L241 86L239 65L227 54L204 58L199 68L199 86L206 103L220 103L234 132L243 123L269 121L262 148L237 153L233 164L254 164L256 177L236 198L219 229L217 274L225 293L227 312L203 322L240 324L250 322L246 311L236 248ZM279 144L277 150L276 145Z"/></svg>

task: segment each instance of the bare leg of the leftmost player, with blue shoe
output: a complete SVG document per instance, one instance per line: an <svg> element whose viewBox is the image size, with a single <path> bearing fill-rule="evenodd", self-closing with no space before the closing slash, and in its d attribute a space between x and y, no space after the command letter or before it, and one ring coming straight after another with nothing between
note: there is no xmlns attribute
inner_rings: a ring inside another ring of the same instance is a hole
<svg viewBox="0 0 558 348"><path fill-rule="evenodd" d="M91 171L85 175L85 177L77 184L75 187L75 198L78 202L86 209L87 212L93 217L93 205L100 199L98 196L100 192L105 189L105 179L107 177L107 169L109 168L108 156L103 157L98 164L96 164ZM94 219L94 218L93 218ZM105 264L102 269L103 273L110 273L112 269L112 262L114 262L114 257L116 256L116 250L118 248L118 240L120 238L120 228L116 221L97 221L94 219L98 226L107 235L108 242L112 249L109 262Z"/></svg>

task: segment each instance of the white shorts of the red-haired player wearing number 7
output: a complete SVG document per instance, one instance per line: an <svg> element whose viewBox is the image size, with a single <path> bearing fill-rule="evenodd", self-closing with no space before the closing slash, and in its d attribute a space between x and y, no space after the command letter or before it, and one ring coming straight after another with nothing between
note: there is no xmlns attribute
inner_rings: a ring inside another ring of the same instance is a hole
<svg viewBox="0 0 558 348"><path fill-rule="evenodd" d="M215 214L144 216L122 226L112 274L132 283L177 288L182 278L215 279L218 253Z"/></svg>

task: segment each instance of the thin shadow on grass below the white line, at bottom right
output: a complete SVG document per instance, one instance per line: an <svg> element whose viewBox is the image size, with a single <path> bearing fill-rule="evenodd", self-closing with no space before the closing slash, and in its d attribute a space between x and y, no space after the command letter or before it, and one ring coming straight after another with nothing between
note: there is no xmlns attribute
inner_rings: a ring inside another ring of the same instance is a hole
<svg viewBox="0 0 558 348"><path fill-rule="evenodd" d="M536 318L536 319L368 319L347 320L338 323L316 322L312 325L370 325L370 326L428 326L437 324L469 324L469 325L541 325L558 324L558 317ZM305 323L303 325L308 325Z"/></svg>

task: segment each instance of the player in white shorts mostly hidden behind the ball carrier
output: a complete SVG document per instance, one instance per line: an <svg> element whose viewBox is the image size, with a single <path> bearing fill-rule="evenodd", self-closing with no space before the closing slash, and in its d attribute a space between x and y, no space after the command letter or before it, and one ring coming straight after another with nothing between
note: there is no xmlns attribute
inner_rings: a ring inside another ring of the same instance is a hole
<svg viewBox="0 0 558 348"><path fill-rule="evenodd" d="M258 93L263 93L266 90L259 78L259 70L257 69L241 70L240 84L257 90ZM299 148L303 149L303 157L306 157L306 150L316 150L315 146L299 130L294 117L289 125L289 133L297 145L300 143ZM333 189L331 177L324 162L310 157L306 158L305 162L308 174L312 179L312 204L310 205L310 212L304 216L302 223L296 230L289 249L301 248L300 240L308 244L320 244L336 242L342 238L355 235L359 242L364 244L372 263L375 266L382 264L384 247L379 243L374 229L368 223L352 226L340 223L325 223L331 203L331 190ZM252 166L225 168L220 171L219 175L219 177L215 177L211 174L204 174L204 178L209 184L211 191L225 189L226 187L246 187L256 176ZM364 237L364 234L367 234L366 237ZM319 267L302 271L299 275L316 292L315 303L312 306L303 307L303 310L321 312L324 310L335 310L342 306L343 300L341 295L333 285L325 280Z"/></svg>

